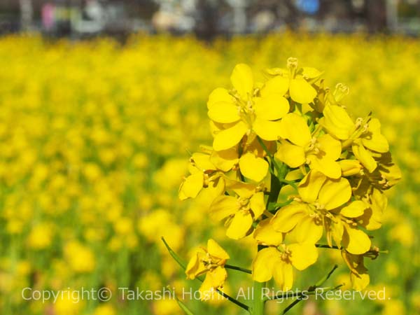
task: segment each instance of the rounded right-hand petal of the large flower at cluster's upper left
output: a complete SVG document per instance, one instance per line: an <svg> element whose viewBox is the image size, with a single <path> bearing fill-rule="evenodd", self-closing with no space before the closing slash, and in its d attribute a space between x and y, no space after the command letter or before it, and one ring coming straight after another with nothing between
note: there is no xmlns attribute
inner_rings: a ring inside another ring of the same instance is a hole
<svg viewBox="0 0 420 315"><path fill-rule="evenodd" d="M266 97L255 97L253 109L262 120L277 120L286 116L290 106L280 94L269 94Z"/></svg>

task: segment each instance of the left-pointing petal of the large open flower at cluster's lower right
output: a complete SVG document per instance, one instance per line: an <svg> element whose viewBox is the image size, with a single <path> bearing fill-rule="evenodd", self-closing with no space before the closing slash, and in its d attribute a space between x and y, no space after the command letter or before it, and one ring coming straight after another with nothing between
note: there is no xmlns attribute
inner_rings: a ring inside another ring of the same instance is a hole
<svg viewBox="0 0 420 315"><path fill-rule="evenodd" d="M307 206L301 203L288 204L276 212L272 218L273 228L279 232L289 232L307 216Z"/></svg>

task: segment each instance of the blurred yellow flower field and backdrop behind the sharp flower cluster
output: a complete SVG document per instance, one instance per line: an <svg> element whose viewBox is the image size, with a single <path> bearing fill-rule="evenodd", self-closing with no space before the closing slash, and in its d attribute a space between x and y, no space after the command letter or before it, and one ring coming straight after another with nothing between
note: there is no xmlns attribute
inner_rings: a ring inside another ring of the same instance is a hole
<svg viewBox="0 0 420 315"><path fill-rule="evenodd" d="M387 191L367 261L385 300L314 300L289 314L420 314L420 1L0 0L0 314L182 314L174 300L123 299L119 287L196 290L160 237L188 260L213 237L251 267L252 239L225 237L208 200L180 202L190 152L211 144L207 97L235 64L300 65L349 86L353 118L370 111L402 169ZM299 272L307 288L346 283L339 253ZM229 272L236 295L251 279ZM269 286L274 283L269 283ZM109 301L80 290L109 288ZM32 291L25 291L31 288ZM64 293L56 302L30 292ZM244 314L186 300L194 314ZM267 314L283 304L268 303Z"/></svg>

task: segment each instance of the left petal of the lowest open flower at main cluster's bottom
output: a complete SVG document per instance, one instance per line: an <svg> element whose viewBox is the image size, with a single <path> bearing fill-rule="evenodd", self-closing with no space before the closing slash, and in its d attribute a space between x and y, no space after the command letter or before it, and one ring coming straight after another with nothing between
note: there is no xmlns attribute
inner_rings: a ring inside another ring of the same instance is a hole
<svg viewBox="0 0 420 315"><path fill-rule="evenodd" d="M272 269L278 260L279 252L276 248L268 247L258 251L252 263L252 279L258 282L272 279Z"/></svg>

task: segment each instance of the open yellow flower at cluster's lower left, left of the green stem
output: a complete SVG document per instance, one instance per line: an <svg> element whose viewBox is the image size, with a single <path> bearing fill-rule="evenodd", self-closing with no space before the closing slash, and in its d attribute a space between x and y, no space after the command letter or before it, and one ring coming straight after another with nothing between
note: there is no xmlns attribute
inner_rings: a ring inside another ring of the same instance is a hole
<svg viewBox="0 0 420 315"><path fill-rule="evenodd" d="M236 183L230 186L237 197L221 195L210 206L210 215L214 220L228 218L226 235L231 239L241 239L251 232L253 221L265 211L264 193L258 186Z"/></svg>

